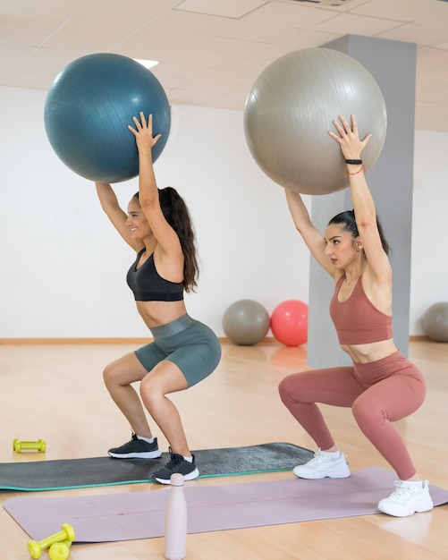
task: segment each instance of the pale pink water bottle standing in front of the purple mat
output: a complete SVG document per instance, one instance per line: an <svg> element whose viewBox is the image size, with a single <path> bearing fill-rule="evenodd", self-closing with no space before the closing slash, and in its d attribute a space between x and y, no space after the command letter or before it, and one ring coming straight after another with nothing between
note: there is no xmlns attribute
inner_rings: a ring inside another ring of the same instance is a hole
<svg viewBox="0 0 448 560"><path fill-rule="evenodd" d="M187 556L187 502L183 494L183 476L171 475L171 490L165 510L165 558L183 560Z"/></svg>

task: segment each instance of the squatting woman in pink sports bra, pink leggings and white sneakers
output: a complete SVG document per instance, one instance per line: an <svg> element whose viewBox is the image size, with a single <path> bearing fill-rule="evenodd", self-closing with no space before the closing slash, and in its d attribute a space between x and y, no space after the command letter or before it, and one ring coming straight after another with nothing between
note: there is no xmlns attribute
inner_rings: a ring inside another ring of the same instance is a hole
<svg viewBox="0 0 448 560"><path fill-rule="evenodd" d="M433 508L428 481L418 477L393 421L415 412L426 395L419 369L393 343L392 267L389 246L364 174L361 152L371 134L359 139L358 124L342 116L334 121L350 177L354 210L330 220L325 236L309 219L300 194L286 190L292 220L317 262L333 276L330 314L342 350L352 366L314 369L283 379L279 393L292 416L314 439L318 451L293 472L301 479L347 478L345 455L334 443L316 403L351 407L359 428L397 473L393 493L378 504L379 511L404 517Z"/></svg>

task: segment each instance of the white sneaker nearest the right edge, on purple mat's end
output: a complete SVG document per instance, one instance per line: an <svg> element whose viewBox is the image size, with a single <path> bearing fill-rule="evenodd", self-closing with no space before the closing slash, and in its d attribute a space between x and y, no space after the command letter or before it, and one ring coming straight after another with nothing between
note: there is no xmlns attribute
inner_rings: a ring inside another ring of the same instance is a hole
<svg viewBox="0 0 448 560"><path fill-rule="evenodd" d="M395 486L397 488L393 493L378 504L380 512L395 517L407 517L413 513L429 512L433 509L427 480L395 480Z"/></svg>

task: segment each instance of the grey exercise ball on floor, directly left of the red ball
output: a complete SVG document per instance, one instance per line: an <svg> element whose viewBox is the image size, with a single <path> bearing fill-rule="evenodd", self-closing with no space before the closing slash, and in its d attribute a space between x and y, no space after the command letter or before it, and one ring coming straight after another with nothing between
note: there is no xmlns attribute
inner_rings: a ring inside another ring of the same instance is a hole
<svg viewBox="0 0 448 560"><path fill-rule="evenodd" d="M254 300L235 301L225 310L224 333L232 343L251 346L259 343L267 334L269 313Z"/></svg>

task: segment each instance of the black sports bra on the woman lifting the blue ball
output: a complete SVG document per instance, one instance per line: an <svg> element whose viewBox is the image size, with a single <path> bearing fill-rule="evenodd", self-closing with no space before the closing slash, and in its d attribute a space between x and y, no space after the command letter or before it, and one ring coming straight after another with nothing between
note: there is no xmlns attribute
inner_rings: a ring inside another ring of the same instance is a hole
<svg viewBox="0 0 448 560"><path fill-rule="evenodd" d="M146 249L139 251L137 259L128 270L126 281L134 293L135 301L182 301L182 282L170 282L156 271L154 253L137 268L139 258Z"/></svg>

